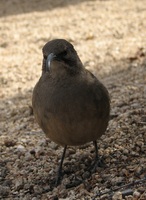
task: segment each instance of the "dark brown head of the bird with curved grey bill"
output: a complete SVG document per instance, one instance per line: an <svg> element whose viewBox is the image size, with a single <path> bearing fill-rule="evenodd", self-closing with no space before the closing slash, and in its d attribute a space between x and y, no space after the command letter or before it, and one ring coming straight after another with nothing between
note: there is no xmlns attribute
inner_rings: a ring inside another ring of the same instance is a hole
<svg viewBox="0 0 146 200"><path fill-rule="evenodd" d="M47 42L43 47L43 73L76 74L83 67L73 45L64 39Z"/></svg>

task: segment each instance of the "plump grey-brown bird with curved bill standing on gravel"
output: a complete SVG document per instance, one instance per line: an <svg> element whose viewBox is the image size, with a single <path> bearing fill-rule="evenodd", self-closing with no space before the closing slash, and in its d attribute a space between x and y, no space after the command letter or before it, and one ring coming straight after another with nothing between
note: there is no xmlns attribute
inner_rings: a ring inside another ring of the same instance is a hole
<svg viewBox="0 0 146 200"><path fill-rule="evenodd" d="M32 107L40 128L51 141L64 147L56 177L60 182L67 146L93 142L106 131L110 97L106 87L88 71L74 46L53 39L42 48L42 74L33 89Z"/></svg>

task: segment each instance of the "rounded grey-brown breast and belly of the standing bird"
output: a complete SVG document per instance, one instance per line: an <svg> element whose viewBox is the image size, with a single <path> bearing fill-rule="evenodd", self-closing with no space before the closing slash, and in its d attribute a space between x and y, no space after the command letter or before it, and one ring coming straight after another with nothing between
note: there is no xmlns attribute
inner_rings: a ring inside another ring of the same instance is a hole
<svg viewBox="0 0 146 200"><path fill-rule="evenodd" d="M99 117L103 105L98 105L91 88L83 83L40 82L33 99L39 125L58 144L80 145L96 140L107 127L108 119Z"/></svg>

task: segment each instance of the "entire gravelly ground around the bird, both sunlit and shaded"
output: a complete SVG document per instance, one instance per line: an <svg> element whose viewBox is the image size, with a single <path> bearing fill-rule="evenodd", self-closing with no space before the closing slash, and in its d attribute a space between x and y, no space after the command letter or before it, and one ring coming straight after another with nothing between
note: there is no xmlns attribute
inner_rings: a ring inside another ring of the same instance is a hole
<svg viewBox="0 0 146 200"><path fill-rule="evenodd" d="M92 144L63 148L31 110L43 45L70 41L106 85L111 120L98 140L105 166L90 174ZM0 1L0 199L146 199L146 1Z"/></svg>

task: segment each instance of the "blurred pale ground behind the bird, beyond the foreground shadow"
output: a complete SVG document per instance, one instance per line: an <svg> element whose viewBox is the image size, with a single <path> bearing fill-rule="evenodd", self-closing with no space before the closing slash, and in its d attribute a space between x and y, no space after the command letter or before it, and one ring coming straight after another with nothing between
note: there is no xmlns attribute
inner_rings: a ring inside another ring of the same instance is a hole
<svg viewBox="0 0 146 200"><path fill-rule="evenodd" d="M73 43L97 76L121 70L145 51L145 0L1 0L0 96L34 86L41 49L54 38Z"/></svg>

